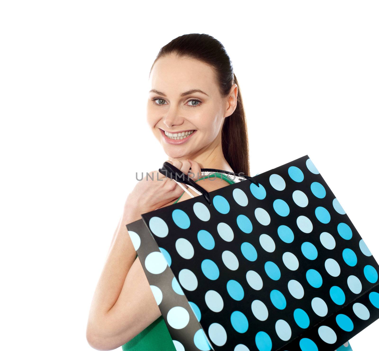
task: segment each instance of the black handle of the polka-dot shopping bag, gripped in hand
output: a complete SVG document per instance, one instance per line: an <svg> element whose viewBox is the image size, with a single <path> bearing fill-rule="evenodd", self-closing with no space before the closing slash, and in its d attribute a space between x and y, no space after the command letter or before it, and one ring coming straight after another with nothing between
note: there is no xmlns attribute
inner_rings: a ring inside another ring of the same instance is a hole
<svg viewBox="0 0 379 351"><path fill-rule="evenodd" d="M205 197L205 200L207 200L208 204L211 205L210 196L208 194L208 191L205 190L202 186L197 184L193 179L189 178L189 176L180 169L176 168L174 165L171 165L169 162L164 162L163 166L158 170L161 174L166 175L166 177L169 177L171 179L175 179L179 183L183 183L186 185L193 186L197 191L202 193ZM223 171L222 169L216 169L216 168L200 168L201 172L221 172L221 173L227 173L227 174L233 174L238 177L244 177L245 179L250 180L250 182L254 183L256 186L259 186L259 184L256 182L256 180L253 179L253 177L250 177L249 175L241 175L239 173L229 172L229 171Z"/></svg>

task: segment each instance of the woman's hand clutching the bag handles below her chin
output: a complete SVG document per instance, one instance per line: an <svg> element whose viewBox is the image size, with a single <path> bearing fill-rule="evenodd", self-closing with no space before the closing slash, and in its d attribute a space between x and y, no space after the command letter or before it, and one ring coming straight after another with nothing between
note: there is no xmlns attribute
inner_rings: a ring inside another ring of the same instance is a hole
<svg viewBox="0 0 379 351"><path fill-rule="evenodd" d="M192 180L201 177L200 166L193 160L166 161L180 169ZM183 186L187 187L185 184ZM149 172L149 175L140 180L132 192L128 195L124 206L124 217L129 221L135 221L141 214L156 210L167 203L176 200L183 193L183 189L171 178L159 171Z"/></svg>

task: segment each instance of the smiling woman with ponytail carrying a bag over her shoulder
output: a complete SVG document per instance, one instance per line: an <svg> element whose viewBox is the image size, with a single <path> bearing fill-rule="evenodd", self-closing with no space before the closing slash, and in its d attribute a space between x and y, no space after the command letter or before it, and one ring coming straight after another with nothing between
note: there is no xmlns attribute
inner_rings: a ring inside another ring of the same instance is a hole
<svg viewBox="0 0 379 351"><path fill-rule="evenodd" d="M186 34L161 48L150 69L147 123L170 163L207 191L233 183L222 172L249 175L246 118L237 79L222 44ZM158 171L125 201L92 300L87 340L99 350L175 351L125 224L142 213L198 196ZM157 181L160 180L160 181ZM212 181L210 181L212 180Z"/></svg>

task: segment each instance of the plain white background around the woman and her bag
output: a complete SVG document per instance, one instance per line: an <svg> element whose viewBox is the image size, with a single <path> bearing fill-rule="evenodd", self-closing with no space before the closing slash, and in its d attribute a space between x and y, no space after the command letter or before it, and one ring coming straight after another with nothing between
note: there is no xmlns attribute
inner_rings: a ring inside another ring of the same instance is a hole
<svg viewBox="0 0 379 351"><path fill-rule="evenodd" d="M232 59L251 174L309 155L379 259L379 8L370 1L0 5L2 349L90 350L92 294L135 172L159 49L207 33ZM379 321L351 339L375 349Z"/></svg>

